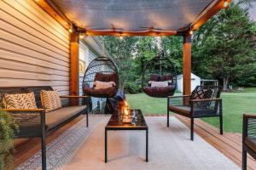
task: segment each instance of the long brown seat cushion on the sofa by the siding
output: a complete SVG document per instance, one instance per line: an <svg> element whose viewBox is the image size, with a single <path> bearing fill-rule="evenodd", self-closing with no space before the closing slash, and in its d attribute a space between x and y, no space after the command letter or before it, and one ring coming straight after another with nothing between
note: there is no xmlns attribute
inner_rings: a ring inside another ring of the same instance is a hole
<svg viewBox="0 0 256 170"><path fill-rule="evenodd" d="M61 122L67 121L68 118L75 116L80 111L86 109L85 105L82 106L67 106L61 109L50 111L45 115L45 122L47 130L61 124Z"/></svg>

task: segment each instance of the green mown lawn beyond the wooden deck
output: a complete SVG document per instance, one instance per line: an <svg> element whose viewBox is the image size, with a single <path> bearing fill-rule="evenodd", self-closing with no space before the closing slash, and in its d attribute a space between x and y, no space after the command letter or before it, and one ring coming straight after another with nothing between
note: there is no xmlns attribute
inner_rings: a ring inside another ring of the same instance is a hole
<svg viewBox="0 0 256 170"><path fill-rule="evenodd" d="M141 109L144 115L166 114L166 99L148 97L146 94L126 94L131 108ZM256 88L242 92L222 93L224 102L224 131L241 133L242 113L256 114ZM203 119L218 127L218 118Z"/></svg>

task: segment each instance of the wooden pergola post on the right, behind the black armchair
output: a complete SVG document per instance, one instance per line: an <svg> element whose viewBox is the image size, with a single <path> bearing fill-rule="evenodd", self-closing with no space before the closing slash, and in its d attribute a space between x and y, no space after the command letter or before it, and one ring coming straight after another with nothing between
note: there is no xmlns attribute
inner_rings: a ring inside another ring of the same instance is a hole
<svg viewBox="0 0 256 170"><path fill-rule="evenodd" d="M191 35L183 37L183 95L191 94Z"/></svg>

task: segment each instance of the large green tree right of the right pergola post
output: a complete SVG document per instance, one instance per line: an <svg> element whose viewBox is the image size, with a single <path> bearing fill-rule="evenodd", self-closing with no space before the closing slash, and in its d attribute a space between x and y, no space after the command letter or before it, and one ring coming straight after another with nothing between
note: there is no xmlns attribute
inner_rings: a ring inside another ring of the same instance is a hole
<svg viewBox="0 0 256 170"><path fill-rule="evenodd" d="M232 3L196 32L193 38L193 70L203 77L223 80L224 90L229 82L255 73L255 29L241 2Z"/></svg>

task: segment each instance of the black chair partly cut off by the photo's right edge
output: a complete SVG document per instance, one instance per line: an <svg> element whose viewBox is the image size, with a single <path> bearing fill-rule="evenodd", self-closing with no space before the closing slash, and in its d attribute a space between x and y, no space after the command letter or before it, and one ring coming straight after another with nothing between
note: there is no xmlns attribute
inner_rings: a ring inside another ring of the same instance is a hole
<svg viewBox="0 0 256 170"><path fill-rule="evenodd" d="M247 153L256 160L256 115L243 115L242 170L247 169Z"/></svg>

